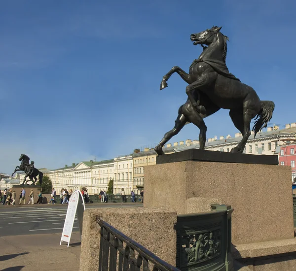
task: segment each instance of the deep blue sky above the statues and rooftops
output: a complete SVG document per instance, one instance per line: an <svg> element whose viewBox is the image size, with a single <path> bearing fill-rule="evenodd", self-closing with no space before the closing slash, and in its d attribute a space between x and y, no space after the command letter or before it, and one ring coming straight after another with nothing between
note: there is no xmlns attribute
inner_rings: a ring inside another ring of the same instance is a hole
<svg viewBox="0 0 296 271"><path fill-rule="evenodd" d="M296 122L295 1L0 1L0 172L21 153L37 168L110 159L158 143L186 101L173 66L202 49L192 33L222 26L226 64L272 123ZM208 137L237 132L228 110L205 119ZM192 124L171 142L197 139Z"/></svg>

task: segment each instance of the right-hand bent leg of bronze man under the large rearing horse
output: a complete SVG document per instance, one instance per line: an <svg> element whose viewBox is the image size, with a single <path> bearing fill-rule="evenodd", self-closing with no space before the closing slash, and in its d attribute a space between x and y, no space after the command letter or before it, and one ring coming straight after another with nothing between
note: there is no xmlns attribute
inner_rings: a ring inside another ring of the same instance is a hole
<svg viewBox="0 0 296 271"><path fill-rule="evenodd" d="M199 148L204 150L207 139L207 126L202 116L192 107L191 103L185 103L182 110L189 122L192 122L199 128Z"/></svg>

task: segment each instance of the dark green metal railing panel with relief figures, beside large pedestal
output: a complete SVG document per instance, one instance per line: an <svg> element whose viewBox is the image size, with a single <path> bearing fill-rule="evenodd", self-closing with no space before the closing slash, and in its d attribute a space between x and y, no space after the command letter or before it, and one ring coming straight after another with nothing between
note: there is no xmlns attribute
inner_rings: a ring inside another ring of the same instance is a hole
<svg viewBox="0 0 296 271"><path fill-rule="evenodd" d="M221 208L224 210L218 210ZM232 210L229 205L219 205L217 211L178 216L177 268L181 271L232 270L228 253Z"/></svg>

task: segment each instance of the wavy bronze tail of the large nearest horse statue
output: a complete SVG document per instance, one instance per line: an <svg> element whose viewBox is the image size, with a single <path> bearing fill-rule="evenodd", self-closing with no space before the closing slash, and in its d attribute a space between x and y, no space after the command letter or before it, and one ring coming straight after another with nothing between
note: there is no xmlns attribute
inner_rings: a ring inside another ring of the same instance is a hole
<svg viewBox="0 0 296 271"><path fill-rule="evenodd" d="M255 121L253 131L255 132L254 137L261 131L261 129L266 128L267 123L272 118L272 112L274 110L274 102L271 101L260 101L261 109L256 116L257 121Z"/></svg>

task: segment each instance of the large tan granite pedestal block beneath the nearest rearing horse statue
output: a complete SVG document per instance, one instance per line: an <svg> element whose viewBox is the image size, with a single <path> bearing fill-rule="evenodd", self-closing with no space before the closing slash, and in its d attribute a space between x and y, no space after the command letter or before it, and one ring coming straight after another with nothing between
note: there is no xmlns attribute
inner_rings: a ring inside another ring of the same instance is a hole
<svg viewBox="0 0 296 271"><path fill-rule="evenodd" d="M234 244L294 238L290 167L184 161L146 166L144 177L144 207L185 214L191 198L231 205Z"/></svg>

